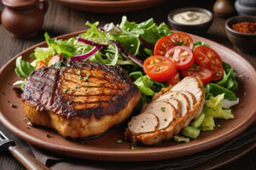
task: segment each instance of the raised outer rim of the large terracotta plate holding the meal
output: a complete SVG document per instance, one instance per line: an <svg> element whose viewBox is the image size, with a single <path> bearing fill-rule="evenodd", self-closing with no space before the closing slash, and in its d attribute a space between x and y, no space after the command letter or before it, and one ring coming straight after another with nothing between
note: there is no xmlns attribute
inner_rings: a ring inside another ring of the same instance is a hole
<svg viewBox="0 0 256 170"><path fill-rule="evenodd" d="M75 36L78 35L80 33L84 32L83 31L74 31L68 34L64 34L58 37L54 37L57 39L63 38L63 37L71 37L71 36ZM213 44L218 44L218 42L213 42L212 40L209 40L207 38L204 37L199 37L199 36L195 36L192 35L195 38L200 38L202 41L205 42L210 42ZM39 42L35 45L33 45L30 48L26 48L25 50L21 51L20 54L24 54L27 51L32 50L33 48L36 48L38 46L42 46L45 44L44 42ZM221 46L222 48L228 50L231 54L236 54L236 52L234 52L233 50L231 50L230 48L226 48L221 44L218 44L218 46ZM3 65L3 67L0 69L0 76L3 74L3 71L14 62L14 60L20 56L20 54L15 55L15 57L13 59L9 59L9 61ZM239 59L245 63L248 67L247 69L249 69L250 71L253 71L254 76L256 77L256 73L255 73L255 69L253 68L253 65L251 65L247 59L244 59L241 57L240 54L236 54L236 56L239 57ZM255 80L254 80L255 82ZM221 138L221 139L215 139L215 140L211 140L208 141L207 144L204 144L204 147L201 148L200 145L195 144L195 143L191 143L190 142L190 146L189 147L184 147L183 144L180 145L176 145L177 150L166 150L165 148L160 150L160 148L150 148L150 150L103 150L104 154L107 154L108 157L100 157L102 156L102 150L85 150L84 152L82 152L82 155L79 156L79 158L83 158L83 159L92 159L92 160L98 160L98 161L125 161L125 160L129 160L129 161L156 161L156 160L162 160L162 159L166 159L166 158L172 158L174 156L170 156L170 152L175 152L175 154L177 154L176 156L186 156L186 155L190 155L193 153L197 153L200 152L202 150L207 150L212 148L213 146L217 146L218 144L222 144L227 140L230 140L232 138L234 138L236 135L240 134L241 132L243 132L244 130L246 130L247 127L249 127L255 120L256 120L256 114L255 114L255 110L254 109L254 113L252 114L252 116L248 117L247 119L243 120L243 122L240 122L239 124L239 128L236 127L236 130L233 132L226 132L225 133L225 138ZM45 150L51 150L55 153L60 153L66 156L73 156L76 157L76 154L79 152L81 154L81 150L79 149L74 149L74 148L70 148L70 147L64 147L64 151L60 151L63 149L63 146L60 146L58 144L51 144L49 143L49 141L42 141L40 139L35 138L34 136L31 136L30 134L27 134L26 132L21 131L20 129L18 129L17 127L15 127L15 125L13 124L13 122L9 122L9 120L6 119L6 117L4 116L4 114L2 113L1 107L0 107L0 122L3 123L4 127L7 127L12 133L15 133L17 136L20 137L20 139L24 139L27 142L37 145ZM232 121L232 120L231 120ZM44 129L40 129L40 130L44 130ZM222 135L224 136L224 135ZM193 149L191 150L191 147L193 147ZM90 149L90 148L89 148ZM183 150L182 153L178 153L178 150ZM90 151L90 153L88 153L88 151ZM136 153L136 156L134 155ZM88 155L89 154L89 155ZM144 158L141 158L139 160L137 160L137 156L145 156L145 154L151 154L151 155L156 155L156 154L161 154L160 159L155 158L154 156L152 156L152 158L150 158L149 156L146 156ZM124 156L125 155L125 156ZM119 157L119 156L123 156L123 157ZM176 157L175 156L175 157Z"/></svg>

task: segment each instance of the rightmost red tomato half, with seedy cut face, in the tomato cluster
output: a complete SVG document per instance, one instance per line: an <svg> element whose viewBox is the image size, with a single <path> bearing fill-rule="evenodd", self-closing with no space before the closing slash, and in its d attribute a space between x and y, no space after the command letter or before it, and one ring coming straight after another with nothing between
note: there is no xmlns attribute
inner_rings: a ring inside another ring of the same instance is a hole
<svg viewBox="0 0 256 170"><path fill-rule="evenodd" d="M222 59L212 48L198 46L194 49L195 63L212 71L212 80L217 81L224 75Z"/></svg>

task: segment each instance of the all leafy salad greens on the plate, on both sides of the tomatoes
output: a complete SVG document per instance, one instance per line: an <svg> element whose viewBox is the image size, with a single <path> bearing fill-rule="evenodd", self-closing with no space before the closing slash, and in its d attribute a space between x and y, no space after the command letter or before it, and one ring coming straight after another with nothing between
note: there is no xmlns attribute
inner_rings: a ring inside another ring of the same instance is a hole
<svg viewBox="0 0 256 170"><path fill-rule="evenodd" d="M33 59L32 63L23 60L22 56L18 57L15 63L16 74L26 79L35 70L38 61L45 61L48 56L61 54L66 60L90 60L106 65L122 66L142 92L142 103L150 101L154 93L166 87L164 82L151 80L142 68L143 60L153 55L154 43L160 37L166 37L172 33L165 23L158 26L153 19L149 19L137 24L128 21L123 16L117 25L109 23L99 27L99 22L86 22L85 26L89 28L79 37L71 37L67 40L51 39L45 33L44 37L48 47L35 48L34 53L30 55ZM194 46L198 45L207 46L204 42L195 42ZM23 88L24 81L15 82L16 84L20 84ZM205 86L205 107L201 116L184 129L185 134L192 132L198 135L201 130L212 130L215 126L213 118L234 118L229 101L235 101L233 102L235 105L238 103L238 98L234 93L237 86L233 69L229 64L224 63L224 77L218 82L211 82ZM222 105L224 100L228 101L229 105L225 109ZM189 136L189 138L195 138L196 135Z"/></svg>

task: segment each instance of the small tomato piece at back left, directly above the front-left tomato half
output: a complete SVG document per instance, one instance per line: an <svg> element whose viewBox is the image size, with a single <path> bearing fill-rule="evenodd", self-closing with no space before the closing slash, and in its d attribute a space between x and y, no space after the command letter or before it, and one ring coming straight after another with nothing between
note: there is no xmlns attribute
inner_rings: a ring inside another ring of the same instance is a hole
<svg viewBox="0 0 256 170"><path fill-rule="evenodd" d="M161 37L154 45L154 55L165 55L166 51L174 47L170 37Z"/></svg>

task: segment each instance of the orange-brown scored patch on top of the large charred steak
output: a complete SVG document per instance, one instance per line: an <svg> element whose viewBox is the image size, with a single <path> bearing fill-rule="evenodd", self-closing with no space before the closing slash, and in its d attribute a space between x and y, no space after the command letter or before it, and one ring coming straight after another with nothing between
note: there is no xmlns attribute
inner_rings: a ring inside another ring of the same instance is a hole
<svg viewBox="0 0 256 170"><path fill-rule="evenodd" d="M115 103L116 95L125 91L124 85L119 86L119 83L123 84L124 81L116 80L115 77L110 79L108 74L102 71L102 74L95 76L93 71L79 72L78 69L66 69L62 71L59 81L61 96L67 99L67 102L72 102L74 110L89 111L95 108L107 108ZM108 111L105 113L112 114Z"/></svg>

